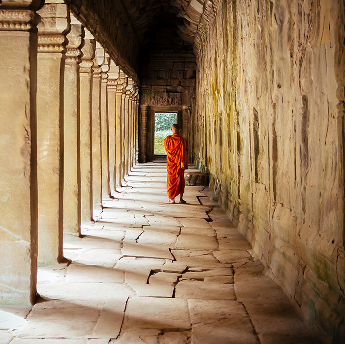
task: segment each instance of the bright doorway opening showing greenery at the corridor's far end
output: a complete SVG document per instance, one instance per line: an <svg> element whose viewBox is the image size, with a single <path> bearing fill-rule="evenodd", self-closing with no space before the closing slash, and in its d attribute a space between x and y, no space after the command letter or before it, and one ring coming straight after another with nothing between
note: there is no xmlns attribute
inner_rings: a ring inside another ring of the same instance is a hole
<svg viewBox="0 0 345 344"><path fill-rule="evenodd" d="M166 155L164 139L171 135L171 125L177 123L176 112L155 112L155 155Z"/></svg>

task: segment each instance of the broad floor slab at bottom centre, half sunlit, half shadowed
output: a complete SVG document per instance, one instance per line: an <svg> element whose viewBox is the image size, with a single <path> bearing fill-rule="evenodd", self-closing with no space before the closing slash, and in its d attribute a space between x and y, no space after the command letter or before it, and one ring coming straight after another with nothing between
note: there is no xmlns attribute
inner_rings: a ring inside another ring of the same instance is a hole
<svg viewBox="0 0 345 344"><path fill-rule="evenodd" d="M173 298L130 297L123 326L124 329L188 330L190 319L187 301Z"/></svg>

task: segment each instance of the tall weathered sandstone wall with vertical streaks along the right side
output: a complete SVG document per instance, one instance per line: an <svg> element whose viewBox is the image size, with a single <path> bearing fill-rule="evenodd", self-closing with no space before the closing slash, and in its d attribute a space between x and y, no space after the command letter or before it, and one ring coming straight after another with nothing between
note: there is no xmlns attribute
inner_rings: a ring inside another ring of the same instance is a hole
<svg viewBox="0 0 345 344"><path fill-rule="evenodd" d="M344 323L344 3L208 2L195 161L311 323Z"/></svg>

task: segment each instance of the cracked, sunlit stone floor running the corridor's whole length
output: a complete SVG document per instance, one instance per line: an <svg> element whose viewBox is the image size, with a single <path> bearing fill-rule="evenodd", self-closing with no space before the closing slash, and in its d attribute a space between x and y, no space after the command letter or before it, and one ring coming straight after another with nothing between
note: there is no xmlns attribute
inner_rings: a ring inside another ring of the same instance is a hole
<svg viewBox="0 0 345 344"><path fill-rule="evenodd" d="M71 263L39 268L32 308L0 307L0 344L319 343L212 192L168 204L165 181L164 164L136 166L65 235Z"/></svg>

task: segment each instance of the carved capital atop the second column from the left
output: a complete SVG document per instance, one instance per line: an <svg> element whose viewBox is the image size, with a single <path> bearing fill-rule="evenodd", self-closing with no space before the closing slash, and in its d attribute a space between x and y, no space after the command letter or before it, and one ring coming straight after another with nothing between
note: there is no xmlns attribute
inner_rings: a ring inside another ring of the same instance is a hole
<svg viewBox="0 0 345 344"><path fill-rule="evenodd" d="M66 45L65 33L70 28L67 5L47 0L37 11L41 16L38 29L38 52L61 53Z"/></svg>

